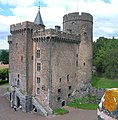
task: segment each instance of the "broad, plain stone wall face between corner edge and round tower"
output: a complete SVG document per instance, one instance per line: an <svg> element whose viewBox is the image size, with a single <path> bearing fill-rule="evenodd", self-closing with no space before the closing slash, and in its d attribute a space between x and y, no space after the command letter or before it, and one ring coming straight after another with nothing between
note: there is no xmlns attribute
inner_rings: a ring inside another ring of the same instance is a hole
<svg viewBox="0 0 118 120"><path fill-rule="evenodd" d="M53 109L66 105L76 88L77 46L76 43L52 41L50 106Z"/></svg>

